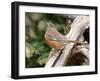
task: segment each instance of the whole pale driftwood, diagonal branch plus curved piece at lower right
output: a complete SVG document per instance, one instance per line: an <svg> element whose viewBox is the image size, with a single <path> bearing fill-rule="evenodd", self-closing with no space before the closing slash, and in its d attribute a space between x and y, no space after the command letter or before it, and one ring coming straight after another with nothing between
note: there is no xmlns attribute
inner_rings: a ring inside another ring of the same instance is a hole
<svg viewBox="0 0 100 81"><path fill-rule="evenodd" d="M73 40L73 41L80 40L85 29L88 27L89 27L89 16L77 16L74 19L73 23L71 24L71 29L69 33L65 37L67 37L68 40ZM45 67L64 66L68 61L68 58L71 54L74 45L75 43L69 43L66 44L65 48L62 50L51 51L50 56L48 58L48 62L45 65ZM83 47L82 45L77 46L77 49L80 50L87 58L89 58L88 56L89 49L87 48L86 45L83 45ZM86 64L88 63L89 61L86 62Z"/></svg>

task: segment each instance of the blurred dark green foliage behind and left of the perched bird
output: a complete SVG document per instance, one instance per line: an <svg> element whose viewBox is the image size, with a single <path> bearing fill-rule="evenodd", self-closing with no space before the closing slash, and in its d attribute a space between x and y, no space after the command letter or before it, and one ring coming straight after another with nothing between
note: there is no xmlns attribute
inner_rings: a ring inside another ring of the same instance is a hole
<svg viewBox="0 0 100 81"><path fill-rule="evenodd" d="M62 34L67 34L73 19L62 14L25 13L26 68L44 67L51 48L46 44L44 35L47 22L52 22Z"/></svg>

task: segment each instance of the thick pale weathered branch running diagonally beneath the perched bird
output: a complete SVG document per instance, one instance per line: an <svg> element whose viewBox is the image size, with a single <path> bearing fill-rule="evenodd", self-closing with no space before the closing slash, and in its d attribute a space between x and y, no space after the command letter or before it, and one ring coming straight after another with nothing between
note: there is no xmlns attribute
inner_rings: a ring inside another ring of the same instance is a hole
<svg viewBox="0 0 100 81"><path fill-rule="evenodd" d="M78 40L78 38L82 36L83 32L88 26L89 26L89 16L77 16L73 21L73 23L71 24L70 32L66 35L67 39ZM57 56L55 57L51 56L45 67L65 65L66 62L68 61L73 46L74 43L66 44L65 48L62 51L62 54L60 55L61 50L59 50L59 52L56 52ZM55 52L52 52L52 54L55 55Z"/></svg>

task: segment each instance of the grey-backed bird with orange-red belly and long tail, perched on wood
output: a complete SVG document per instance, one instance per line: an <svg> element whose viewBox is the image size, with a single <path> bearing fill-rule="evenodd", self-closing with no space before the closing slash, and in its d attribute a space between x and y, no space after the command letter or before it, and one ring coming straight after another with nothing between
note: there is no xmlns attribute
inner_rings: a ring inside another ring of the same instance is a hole
<svg viewBox="0 0 100 81"><path fill-rule="evenodd" d="M55 25L52 23L47 23L47 29L44 37L46 43L54 50L63 49L65 45L69 43L83 43L80 41L68 40L63 34L57 31Z"/></svg>

